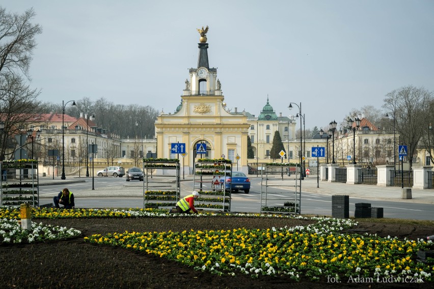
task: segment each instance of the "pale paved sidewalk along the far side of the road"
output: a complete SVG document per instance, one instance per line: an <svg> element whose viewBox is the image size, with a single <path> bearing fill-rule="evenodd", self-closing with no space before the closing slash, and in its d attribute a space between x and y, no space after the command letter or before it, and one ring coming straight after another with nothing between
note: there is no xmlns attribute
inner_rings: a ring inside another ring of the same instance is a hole
<svg viewBox="0 0 434 289"><path fill-rule="evenodd" d="M261 177L256 176L248 176L250 179L255 180ZM157 176L154 176L157 178ZM280 175L276 175L270 177L273 179L275 184L281 183L282 185L287 185L288 182L293 182L295 184L294 177L284 176L283 180ZM123 178L125 181L125 178ZM186 194L188 191L191 191L191 185L184 186L183 182L192 181L193 176L185 176L183 180L181 178L181 195ZM92 190L92 178L91 177L72 177L66 176L66 180L61 180L60 177L56 177L53 179L52 177L39 177L39 185L59 185L60 187L67 187L66 184L73 183L89 183L89 189L82 190L77 192L80 196L142 196L143 195L143 183L142 182L133 182L128 184L128 186L107 186L107 187L95 187L95 190ZM297 180L297 182L300 182ZM319 188L318 188L319 186ZM402 199L402 189L401 187L379 187L376 185L347 185L345 183L330 183L327 181L319 181L317 183L316 175L311 175L309 178L305 178L302 181L302 193L303 192L312 192L318 194L326 194L326 195L348 195L350 197L364 198L364 199L372 199L372 200L389 200L389 201L404 201L407 203L420 203L420 204L434 204L434 190L427 189L412 189L412 198L411 199Z"/></svg>

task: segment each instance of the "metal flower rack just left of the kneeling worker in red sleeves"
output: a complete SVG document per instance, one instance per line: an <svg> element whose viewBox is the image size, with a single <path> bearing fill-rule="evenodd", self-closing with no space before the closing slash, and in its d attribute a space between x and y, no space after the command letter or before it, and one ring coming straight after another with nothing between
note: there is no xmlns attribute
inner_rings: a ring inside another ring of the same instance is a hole
<svg viewBox="0 0 434 289"><path fill-rule="evenodd" d="M153 172L152 170L155 170ZM173 208L181 194L177 159L143 161L143 208Z"/></svg>

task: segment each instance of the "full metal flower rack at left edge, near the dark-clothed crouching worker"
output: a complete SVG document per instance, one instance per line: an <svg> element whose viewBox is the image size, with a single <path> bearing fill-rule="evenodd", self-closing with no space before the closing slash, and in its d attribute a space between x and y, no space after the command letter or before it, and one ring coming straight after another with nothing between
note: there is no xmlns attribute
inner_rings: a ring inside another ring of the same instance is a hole
<svg viewBox="0 0 434 289"><path fill-rule="evenodd" d="M39 205L39 177L37 161L0 162L0 204L19 206L28 203Z"/></svg>

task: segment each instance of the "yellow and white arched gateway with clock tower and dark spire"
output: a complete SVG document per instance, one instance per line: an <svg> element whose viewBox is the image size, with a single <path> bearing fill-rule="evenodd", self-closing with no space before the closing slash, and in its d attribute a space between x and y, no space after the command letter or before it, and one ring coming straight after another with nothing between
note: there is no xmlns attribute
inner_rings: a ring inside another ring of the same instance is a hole
<svg viewBox="0 0 434 289"><path fill-rule="evenodd" d="M250 125L246 115L226 110L217 69L208 65L208 43L203 37L200 41L198 66L189 69L181 104L173 114L160 114L155 121L158 158L177 158L171 153L171 143L185 143L186 156L181 166L187 174L193 173L195 158L216 159L225 155L235 162L237 154L239 169L247 173ZM205 143L206 154L196 154L197 143Z"/></svg>

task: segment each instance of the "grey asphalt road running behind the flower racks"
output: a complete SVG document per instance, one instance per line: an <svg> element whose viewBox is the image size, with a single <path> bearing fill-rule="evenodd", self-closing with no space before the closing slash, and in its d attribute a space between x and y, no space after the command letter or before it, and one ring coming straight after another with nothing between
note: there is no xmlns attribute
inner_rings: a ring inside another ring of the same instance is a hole
<svg viewBox="0 0 434 289"><path fill-rule="evenodd" d="M87 180L86 183L68 184L67 187L76 195L77 208L143 208L143 183L137 181L126 182L125 178L95 178L95 188L99 189L95 192L104 193L106 196L86 196L79 197L80 192L89 191L92 188L92 181ZM181 182L182 191L189 191L193 188L192 181ZM101 188L107 188L106 194ZM119 188L119 189L118 189ZM50 198L56 195L62 188L56 186L40 186L39 194L41 204L49 203ZM207 188L204 187L204 190ZM116 192L128 191L125 196L119 196ZM288 188L279 188L279 193L273 193L276 197L288 197L285 191ZM282 202L281 202L282 203ZM282 206L281 203L272 203L268 205ZM432 212L434 205L432 204L418 204L418 203L404 203L388 200L374 200L364 198L349 198L349 215L354 216L356 203L370 203L372 207L384 208L385 218L401 218L401 219L415 219L415 220L432 220ZM231 211L232 212L254 212L259 213L261 207L261 185L260 179L252 180L252 188L249 194L243 192L232 194ZM301 199L301 213L314 214L319 216L332 215L332 196L304 192L302 189Z"/></svg>

